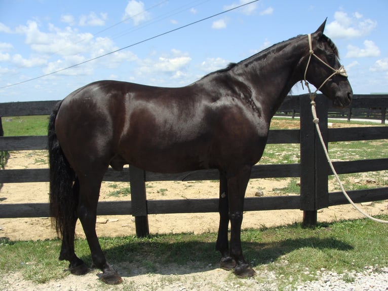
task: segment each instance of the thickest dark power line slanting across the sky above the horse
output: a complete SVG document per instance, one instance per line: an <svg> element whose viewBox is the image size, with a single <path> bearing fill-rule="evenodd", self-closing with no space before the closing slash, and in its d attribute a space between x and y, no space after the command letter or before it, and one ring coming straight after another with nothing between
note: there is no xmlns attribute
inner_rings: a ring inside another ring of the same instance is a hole
<svg viewBox="0 0 388 291"><path fill-rule="evenodd" d="M145 43L145 42L148 42L150 40L153 40L153 39L157 39L159 37L162 37L163 35L166 35L166 34L169 34L171 32L174 32L174 31L177 31L177 30L180 30L182 28L185 28L185 27L188 27L188 26L191 26L191 25L194 25L194 24L197 24L199 22L202 22L202 21L205 21L205 20L208 20L210 18L213 18L213 17L216 17L216 16L219 16L219 15L222 15L222 14L225 14L227 12L230 12L232 10L236 10L236 9L239 9L241 7L244 7L244 6L247 6L247 5L250 5L252 3L255 3L255 2L258 2L259 0L254 0L254 1L251 1L251 2L248 2L248 3L245 3L245 4L241 4L239 6L236 6L236 7L232 7L228 10L225 10L225 11L222 11L222 12L219 12L217 14L213 14L211 16L208 16L208 17L205 17L205 18L202 18L200 20L197 20L197 21L194 21L194 22L191 22L191 23L188 23L188 24L185 24L185 25L182 25L182 26L179 26L177 28L174 28L174 29L171 29L171 30L168 30L166 32L163 32L163 33L160 33L160 34L157 34L157 35L154 35L153 37L150 37L148 39L145 39L145 40L142 40L142 41L139 41L137 43L134 43L132 45L129 45L129 46L126 46L126 47L123 47L121 49L118 49L118 50L114 50L114 51L111 51L109 53L106 53L106 54L103 54L103 55L100 55L100 56L97 56L97 57L94 57L94 58L91 58L91 59L88 59L86 61L83 61L83 62L80 62L80 63L77 63L77 64L74 64L74 65L71 65L71 66L68 66L68 67L65 67L65 68L62 68L62 69L59 69L59 70L56 70L56 71L53 71L53 72L50 72L49 74L45 74L45 75L41 75L41 76L38 76L38 77L35 77L35 78L32 78L32 79L28 79L28 80L24 80L22 82L18 82L18 83L14 83L14 84L11 84L11 85L7 85L7 86L3 86L3 87L0 87L0 89L4 89L4 88L8 88L8 87L12 87L12 86L16 86L16 85L20 85L20 84L24 84L24 83L27 83L27 82L30 82L30 81L34 81L34 80L37 80L37 79L41 79L41 78L44 78L44 77L47 77L47 76L50 76L50 75L54 75L54 74L57 74L58 72L61 72L61 71L64 71L64 70L67 70L67 69L70 69L70 68L73 68L73 67L76 67L76 66L79 66L79 65L83 65L85 63L88 63L88 62L91 62L91 61L94 61L94 60L97 60L97 59L100 59L102 57L106 57L108 55L111 55L111 54L114 54L114 53L117 53L117 52L120 52L122 50L125 50L125 49L128 49L128 48L131 48L131 47L134 47L134 46L137 46L139 44L142 44L142 43Z"/></svg>

